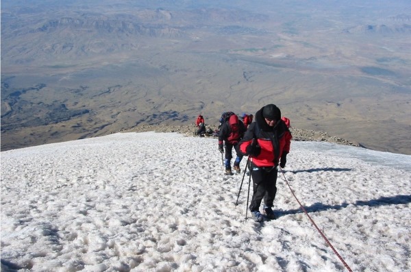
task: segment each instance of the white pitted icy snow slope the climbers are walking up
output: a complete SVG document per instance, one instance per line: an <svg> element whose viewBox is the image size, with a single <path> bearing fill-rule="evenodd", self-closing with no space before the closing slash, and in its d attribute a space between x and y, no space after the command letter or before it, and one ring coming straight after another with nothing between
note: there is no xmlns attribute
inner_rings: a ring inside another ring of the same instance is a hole
<svg viewBox="0 0 411 272"><path fill-rule="evenodd" d="M284 175L353 271L411 271L411 156L292 141ZM3 151L1 271L347 271L282 173L275 221L245 220L248 185L223 175L214 138Z"/></svg>

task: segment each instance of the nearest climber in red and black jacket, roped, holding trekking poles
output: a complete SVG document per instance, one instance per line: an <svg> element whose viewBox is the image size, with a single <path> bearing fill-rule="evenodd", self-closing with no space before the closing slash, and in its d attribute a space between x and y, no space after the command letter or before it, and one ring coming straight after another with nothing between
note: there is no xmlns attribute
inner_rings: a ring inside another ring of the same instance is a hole
<svg viewBox="0 0 411 272"><path fill-rule="evenodd" d="M266 219L275 219L273 202L277 193L277 166L286 166L292 135L281 119L281 111L274 104L256 112L256 122L251 123L240 141L240 151L251 158L253 197L249 209L253 219L262 222L260 205L264 198Z"/></svg>

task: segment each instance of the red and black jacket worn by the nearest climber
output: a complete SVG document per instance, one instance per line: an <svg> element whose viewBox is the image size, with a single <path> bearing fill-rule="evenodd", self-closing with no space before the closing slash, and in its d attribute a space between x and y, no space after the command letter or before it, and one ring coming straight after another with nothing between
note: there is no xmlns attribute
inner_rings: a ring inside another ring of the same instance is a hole
<svg viewBox="0 0 411 272"><path fill-rule="evenodd" d="M258 156L253 157L253 164L256 166L277 166L282 153L290 152L291 133L284 121L281 119L270 127L262 116L262 108L256 113L256 122L249 125L247 132L240 141L240 151L247 154L247 147L253 140L261 147Z"/></svg>

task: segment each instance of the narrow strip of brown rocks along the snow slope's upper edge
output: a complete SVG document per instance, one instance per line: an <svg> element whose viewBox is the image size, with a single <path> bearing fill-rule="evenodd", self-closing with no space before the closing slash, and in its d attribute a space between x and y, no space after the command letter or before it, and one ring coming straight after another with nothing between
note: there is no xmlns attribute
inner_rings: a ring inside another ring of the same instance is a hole
<svg viewBox="0 0 411 272"><path fill-rule="evenodd" d="M217 128L218 127L216 125L207 125L206 131L209 131L209 129L211 129L214 132ZM160 125L138 125L137 127L132 127L130 129L122 129L120 132L177 132L179 134L184 134L186 136L195 136L196 131L197 131L197 128L195 127L195 125L160 124ZM343 138L331 136L327 134L327 132L298 129L295 127L290 127L290 132L292 134L292 140L296 140L296 141L327 142L327 143L336 143L339 145L351 145L354 147L361 147L359 143L353 143Z"/></svg>

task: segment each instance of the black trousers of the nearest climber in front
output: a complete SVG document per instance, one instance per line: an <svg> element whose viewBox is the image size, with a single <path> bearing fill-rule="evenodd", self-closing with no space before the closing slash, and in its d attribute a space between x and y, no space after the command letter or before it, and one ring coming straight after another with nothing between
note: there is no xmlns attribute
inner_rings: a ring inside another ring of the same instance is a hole
<svg viewBox="0 0 411 272"><path fill-rule="evenodd" d="M260 210L264 198L264 206L273 207L277 193L277 167L258 167L251 164L251 177L253 177L253 198L249 206L251 212Z"/></svg>

